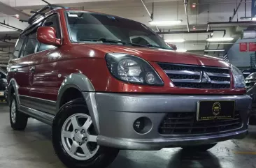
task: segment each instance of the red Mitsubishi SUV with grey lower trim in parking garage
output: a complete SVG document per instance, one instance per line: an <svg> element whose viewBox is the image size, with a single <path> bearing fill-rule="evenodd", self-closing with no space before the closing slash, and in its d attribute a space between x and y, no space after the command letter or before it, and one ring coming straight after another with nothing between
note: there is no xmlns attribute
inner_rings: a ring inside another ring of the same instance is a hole
<svg viewBox="0 0 256 168"><path fill-rule="evenodd" d="M10 124L52 125L68 167L106 167L119 149L204 151L246 136L251 98L231 64L175 52L113 15L42 9L29 24L8 65Z"/></svg>

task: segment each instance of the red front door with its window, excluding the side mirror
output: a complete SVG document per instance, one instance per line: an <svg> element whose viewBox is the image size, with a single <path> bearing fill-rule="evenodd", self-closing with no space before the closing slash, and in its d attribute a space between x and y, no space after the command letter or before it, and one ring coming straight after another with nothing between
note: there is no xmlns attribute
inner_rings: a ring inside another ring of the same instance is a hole
<svg viewBox="0 0 256 168"><path fill-rule="evenodd" d="M48 17L43 26L55 27L57 38L60 38L58 16ZM57 60L59 59L59 49L52 45L38 43L36 54L32 58L31 64L31 90L30 97L33 108L41 112L55 114L55 102L59 87L57 86Z"/></svg>

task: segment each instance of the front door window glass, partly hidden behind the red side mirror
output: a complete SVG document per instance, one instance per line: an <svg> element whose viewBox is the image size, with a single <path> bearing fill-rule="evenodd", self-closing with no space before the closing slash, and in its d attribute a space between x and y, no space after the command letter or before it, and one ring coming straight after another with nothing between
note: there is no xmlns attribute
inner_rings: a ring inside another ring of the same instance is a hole
<svg viewBox="0 0 256 168"><path fill-rule="evenodd" d="M59 28L59 19L57 17L57 15L53 15L51 17L48 17L45 22L43 23L43 26L52 26L55 28L56 30L56 37L57 38L61 38L60 36L60 28ZM40 43L39 47L38 47L38 51L37 52L41 52L47 49L52 49L55 46L53 45L45 45L43 43Z"/></svg>

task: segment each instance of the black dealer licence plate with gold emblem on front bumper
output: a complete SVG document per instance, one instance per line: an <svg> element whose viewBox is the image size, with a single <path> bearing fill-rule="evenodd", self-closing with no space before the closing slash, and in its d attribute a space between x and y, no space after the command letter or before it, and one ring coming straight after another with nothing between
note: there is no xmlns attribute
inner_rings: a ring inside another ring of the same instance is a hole
<svg viewBox="0 0 256 168"><path fill-rule="evenodd" d="M236 101L200 100L197 102L197 121L234 119Z"/></svg>

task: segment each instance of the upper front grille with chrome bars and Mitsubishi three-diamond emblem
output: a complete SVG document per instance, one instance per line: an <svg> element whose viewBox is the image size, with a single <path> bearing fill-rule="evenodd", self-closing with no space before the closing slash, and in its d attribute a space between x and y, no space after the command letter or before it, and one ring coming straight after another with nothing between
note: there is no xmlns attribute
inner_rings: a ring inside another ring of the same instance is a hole
<svg viewBox="0 0 256 168"><path fill-rule="evenodd" d="M182 88L229 89L229 68L158 63L173 84Z"/></svg>

